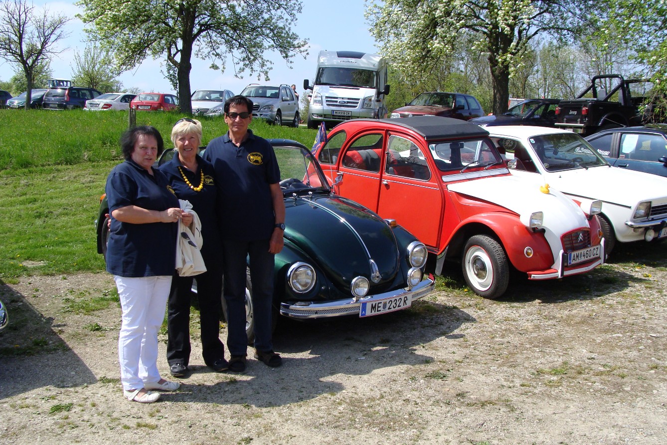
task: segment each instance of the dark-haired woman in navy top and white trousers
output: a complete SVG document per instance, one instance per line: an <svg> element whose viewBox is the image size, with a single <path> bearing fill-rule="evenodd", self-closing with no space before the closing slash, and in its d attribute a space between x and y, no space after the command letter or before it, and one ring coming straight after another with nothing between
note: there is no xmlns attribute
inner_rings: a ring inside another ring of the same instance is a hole
<svg viewBox="0 0 667 445"><path fill-rule="evenodd" d="M123 394L130 401L151 403L180 384L157 370L157 331L165 314L175 268L177 221L189 226L192 215L181 211L164 173L153 163L164 144L154 127L131 128L121 136L125 162L107 177L111 227L107 272L113 274L123 311L118 338Z"/></svg>

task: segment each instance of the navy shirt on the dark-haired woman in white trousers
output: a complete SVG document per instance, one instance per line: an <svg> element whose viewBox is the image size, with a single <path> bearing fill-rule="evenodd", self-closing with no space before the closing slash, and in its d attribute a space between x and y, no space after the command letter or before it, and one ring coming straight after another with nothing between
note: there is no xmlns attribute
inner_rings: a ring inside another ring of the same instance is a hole
<svg viewBox="0 0 667 445"><path fill-rule="evenodd" d="M157 169L151 175L132 159L113 167L105 191L109 213L127 205L158 211L179 207L167 175ZM123 277L173 275L177 230L175 222L130 224L111 217L107 272Z"/></svg>

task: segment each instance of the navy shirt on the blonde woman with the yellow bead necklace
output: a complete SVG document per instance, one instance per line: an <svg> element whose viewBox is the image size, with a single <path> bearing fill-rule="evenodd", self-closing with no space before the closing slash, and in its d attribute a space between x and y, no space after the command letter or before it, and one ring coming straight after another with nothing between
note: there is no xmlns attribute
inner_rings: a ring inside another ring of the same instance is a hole
<svg viewBox="0 0 667 445"><path fill-rule="evenodd" d="M220 256L220 232L218 228L217 216L217 183L215 181L215 172L213 165L201 159L197 155L197 171L190 171L183 167L178 155L167 163L159 167L167 175L167 180L171 188L179 199L187 199L192 204L192 209L197 212L201 222L201 236L203 237L203 246L201 246L201 256L204 262L215 261ZM201 173L203 173L203 188L195 191L190 188L181 171L193 187L199 187L201 183Z"/></svg>

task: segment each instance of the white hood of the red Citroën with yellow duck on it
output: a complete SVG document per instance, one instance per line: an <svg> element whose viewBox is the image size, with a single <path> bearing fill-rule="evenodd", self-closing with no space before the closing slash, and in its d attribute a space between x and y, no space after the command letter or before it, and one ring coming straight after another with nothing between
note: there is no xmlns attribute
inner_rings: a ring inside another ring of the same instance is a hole
<svg viewBox="0 0 667 445"><path fill-rule="evenodd" d="M541 185L544 184L510 175L453 183L448 185L448 189L514 211L520 215L524 224L531 213L542 211L544 226L550 226L556 232L588 226L584 211L572 199L553 185L549 187L548 193L544 193L540 189Z"/></svg>

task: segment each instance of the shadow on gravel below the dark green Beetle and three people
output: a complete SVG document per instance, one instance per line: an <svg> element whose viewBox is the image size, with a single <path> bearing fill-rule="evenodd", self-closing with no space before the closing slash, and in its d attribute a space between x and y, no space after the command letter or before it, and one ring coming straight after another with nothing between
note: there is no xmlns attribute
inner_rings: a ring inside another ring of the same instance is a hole
<svg viewBox="0 0 667 445"><path fill-rule="evenodd" d="M456 331L476 320L466 312L428 301L414 302L409 310L371 318L334 318L316 322L295 322L281 318L273 336L275 350L283 354L302 354L306 358L283 356L281 368L268 368L249 356L247 372L231 381L212 386L188 384L175 402L249 404L257 407L286 406L338 393L356 386L355 376L374 372L388 380L401 378L402 367L423 365L434 360L422 345L438 338L462 338ZM446 340L447 341L447 340ZM193 372L198 372L193 368ZM203 371L205 372L205 371ZM345 378L345 384L340 383ZM247 379L251 377L250 379ZM363 379L359 384L363 384ZM378 388L368 388L368 392ZM271 394L267 398L265 394ZM359 391L358 391L359 392ZM364 388L360 392L364 394ZM376 392L374 391L374 394Z"/></svg>

